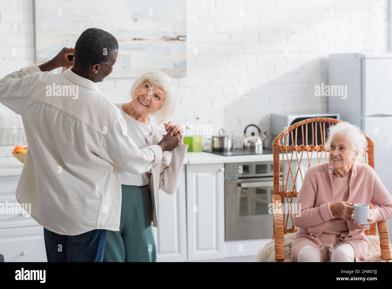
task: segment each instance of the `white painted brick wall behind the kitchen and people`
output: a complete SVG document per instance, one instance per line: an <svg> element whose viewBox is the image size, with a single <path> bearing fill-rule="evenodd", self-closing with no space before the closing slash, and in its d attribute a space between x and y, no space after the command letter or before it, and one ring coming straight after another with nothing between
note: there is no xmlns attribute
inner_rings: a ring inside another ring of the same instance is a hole
<svg viewBox="0 0 392 289"><path fill-rule="evenodd" d="M33 8L32 0L0 4L5 75L34 61ZM387 52L387 9L387 0L187 0L187 77L175 79L171 120L200 117L214 134L235 134L240 146L247 124L270 135L270 113L327 112L314 85L328 82L328 54ZM109 99L126 101L132 81L99 86Z"/></svg>

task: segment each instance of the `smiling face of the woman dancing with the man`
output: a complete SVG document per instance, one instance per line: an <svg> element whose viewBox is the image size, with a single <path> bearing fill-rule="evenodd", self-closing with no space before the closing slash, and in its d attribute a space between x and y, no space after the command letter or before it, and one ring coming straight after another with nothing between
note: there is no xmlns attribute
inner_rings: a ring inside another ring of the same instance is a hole
<svg viewBox="0 0 392 289"><path fill-rule="evenodd" d="M165 90L160 86L154 86L146 80L136 88L132 96L132 103L142 115L149 115L155 110L160 110L165 101Z"/></svg>

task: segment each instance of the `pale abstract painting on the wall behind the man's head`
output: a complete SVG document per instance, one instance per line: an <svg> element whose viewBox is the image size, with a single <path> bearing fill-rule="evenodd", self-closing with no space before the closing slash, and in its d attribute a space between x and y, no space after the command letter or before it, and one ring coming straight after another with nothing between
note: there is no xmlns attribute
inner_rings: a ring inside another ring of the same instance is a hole
<svg viewBox="0 0 392 289"><path fill-rule="evenodd" d="M108 78L135 78L149 70L186 76L184 0L38 0L34 10L38 64L63 47L74 47L85 29L97 27L112 33L120 47Z"/></svg>

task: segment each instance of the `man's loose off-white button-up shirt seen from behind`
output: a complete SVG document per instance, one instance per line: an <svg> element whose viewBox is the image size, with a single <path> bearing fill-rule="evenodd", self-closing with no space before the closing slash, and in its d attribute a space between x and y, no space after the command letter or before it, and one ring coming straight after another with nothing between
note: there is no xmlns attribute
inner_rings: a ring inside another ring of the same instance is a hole
<svg viewBox="0 0 392 289"><path fill-rule="evenodd" d="M76 96L67 93L70 86ZM119 168L147 172L160 164L162 148L139 149L120 110L70 69L21 68L0 80L0 102L22 116L28 142L18 202L31 203L31 216L58 234L118 231Z"/></svg>

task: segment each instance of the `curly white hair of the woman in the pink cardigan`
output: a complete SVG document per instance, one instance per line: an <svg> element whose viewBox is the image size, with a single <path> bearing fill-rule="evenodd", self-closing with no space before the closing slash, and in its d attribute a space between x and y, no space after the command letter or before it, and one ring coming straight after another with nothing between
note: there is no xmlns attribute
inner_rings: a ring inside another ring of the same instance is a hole
<svg viewBox="0 0 392 289"><path fill-rule="evenodd" d="M344 134L347 137L348 142L351 144L352 147L353 157L355 153L358 152L358 157L356 158L356 161L362 163L363 155L365 154L367 146L367 141L365 135L361 132L358 126L347 123L347 121L342 121L333 126L330 126L328 129L327 142L325 144L328 150L330 149L330 144L335 134Z"/></svg>

